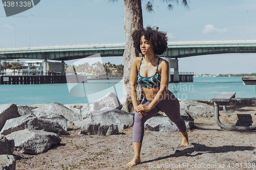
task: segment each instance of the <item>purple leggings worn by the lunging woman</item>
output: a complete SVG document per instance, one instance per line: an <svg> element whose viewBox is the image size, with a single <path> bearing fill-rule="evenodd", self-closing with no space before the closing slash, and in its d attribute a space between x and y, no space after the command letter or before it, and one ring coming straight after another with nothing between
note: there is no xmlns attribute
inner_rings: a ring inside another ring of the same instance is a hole
<svg viewBox="0 0 256 170"><path fill-rule="evenodd" d="M151 101L142 99L141 104L148 106ZM186 131L186 125L184 120L180 117L180 103L175 95L169 91L167 98L159 102L152 110L147 114L141 115L138 112L135 113L134 125L133 125L133 142L142 143L144 136L144 123L147 119L155 116L159 111L164 112L170 120L172 120L181 132Z"/></svg>

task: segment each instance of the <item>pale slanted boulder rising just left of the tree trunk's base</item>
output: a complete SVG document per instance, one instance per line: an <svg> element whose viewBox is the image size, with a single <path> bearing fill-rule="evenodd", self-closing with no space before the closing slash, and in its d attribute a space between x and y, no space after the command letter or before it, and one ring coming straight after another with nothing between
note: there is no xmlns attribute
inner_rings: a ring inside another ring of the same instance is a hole
<svg viewBox="0 0 256 170"><path fill-rule="evenodd" d="M120 101L117 99L117 96L113 92L109 92L103 98L100 98L99 100L90 103L86 106L83 106L81 109L81 115L84 118L87 118L88 115L97 115L104 113L106 111L112 110L112 109L121 109L122 105Z"/></svg>

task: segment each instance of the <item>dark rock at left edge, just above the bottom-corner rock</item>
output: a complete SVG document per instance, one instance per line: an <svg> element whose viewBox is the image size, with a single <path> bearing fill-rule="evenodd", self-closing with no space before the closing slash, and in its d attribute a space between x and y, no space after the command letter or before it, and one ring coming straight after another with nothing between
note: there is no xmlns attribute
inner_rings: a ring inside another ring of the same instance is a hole
<svg viewBox="0 0 256 170"><path fill-rule="evenodd" d="M12 155L13 150L14 140L7 139L4 135L0 134L0 155Z"/></svg>

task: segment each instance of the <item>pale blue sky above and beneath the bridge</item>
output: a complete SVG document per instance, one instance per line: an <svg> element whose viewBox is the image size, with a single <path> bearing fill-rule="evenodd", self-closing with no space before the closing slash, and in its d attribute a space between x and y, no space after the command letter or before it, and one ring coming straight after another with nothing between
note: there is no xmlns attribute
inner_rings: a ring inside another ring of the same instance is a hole
<svg viewBox="0 0 256 170"><path fill-rule="evenodd" d="M167 32L169 41L194 40L245 40L256 39L256 1L254 0L190 0L189 9L174 4L173 11L167 4L154 1L156 12L144 10L143 25L155 26ZM157 7L158 6L158 7ZM0 48L29 44L111 43L124 42L123 1L108 0L44 0L30 10L6 17L0 7ZM115 64L123 63L122 57L108 58ZM105 60L105 59L104 59ZM70 62L68 62L70 63ZM179 71L198 74L241 74L255 71L256 54L219 54L179 59Z"/></svg>

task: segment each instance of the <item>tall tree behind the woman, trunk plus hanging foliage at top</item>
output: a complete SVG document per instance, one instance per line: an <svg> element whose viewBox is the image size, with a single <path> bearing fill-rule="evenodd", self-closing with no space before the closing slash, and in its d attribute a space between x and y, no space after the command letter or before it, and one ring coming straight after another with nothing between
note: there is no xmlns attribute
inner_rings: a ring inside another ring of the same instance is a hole
<svg viewBox="0 0 256 170"><path fill-rule="evenodd" d="M117 2L118 0L109 0L112 2ZM180 2L179 0L162 0L167 3L167 8L169 10L173 9L173 5L170 3ZM188 0L181 0L181 3L184 7L188 8ZM154 0L147 0L146 10L148 12L153 12L153 3ZM126 99L126 102L123 103L123 110L129 112L129 105L131 105L131 96L129 89L129 79L130 79L130 70L132 65L132 60L138 54L135 52L133 47L133 41L131 34L137 30L143 28L143 19L142 19L142 8L141 0L124 0L124 21L123 21L124 33L125 33L125 49L123 53L124 60L124 69L123 69L123 96ZM141 91L141 90L140 90ZM137 93L137 96L141 99L141 93ZM139 100L140 100L139 99Z"/></svg>

